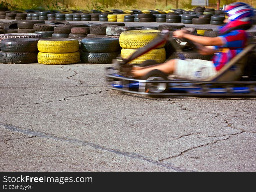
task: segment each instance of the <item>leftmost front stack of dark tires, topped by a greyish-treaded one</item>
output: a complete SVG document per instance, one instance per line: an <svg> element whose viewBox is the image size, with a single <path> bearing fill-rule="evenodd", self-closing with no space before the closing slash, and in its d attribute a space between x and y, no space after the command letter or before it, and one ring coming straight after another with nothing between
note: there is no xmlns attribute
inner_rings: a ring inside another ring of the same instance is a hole
<svg viewBox="0 0 256 192"><path fill-rule="evenodd" d="M0 62L4 64L37 63L38 37L40 36L37 34L4 34L4 36L0 36Z"/></svg>

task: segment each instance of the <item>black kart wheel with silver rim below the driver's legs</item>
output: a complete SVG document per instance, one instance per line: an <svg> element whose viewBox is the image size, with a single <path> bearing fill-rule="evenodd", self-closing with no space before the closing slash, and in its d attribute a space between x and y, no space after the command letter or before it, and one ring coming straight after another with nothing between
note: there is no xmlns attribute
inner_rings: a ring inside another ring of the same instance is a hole
<svg viewBox="0 0 256 192"><path fill-rule="evenodd" d="M167 75L158 69L154 69L142 77L142 79L150 81L163 81L167 80ZM164 93L166 92L167 88L167 83L146 83L146 92L149 93ZM162 95L150 95L150 97L163 98Z"/></svg>

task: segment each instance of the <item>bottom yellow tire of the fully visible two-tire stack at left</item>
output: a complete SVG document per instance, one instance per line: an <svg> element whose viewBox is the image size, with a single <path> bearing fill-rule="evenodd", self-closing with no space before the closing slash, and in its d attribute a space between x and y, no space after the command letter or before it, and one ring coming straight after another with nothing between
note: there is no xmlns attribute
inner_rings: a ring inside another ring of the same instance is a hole
<svg viewBox="0 0 256 192"><path fill-rule="evenodd" d="M37 55L38 63L47 65L66 65L80 62L80 52L72 53L42 53Z"/></svg>

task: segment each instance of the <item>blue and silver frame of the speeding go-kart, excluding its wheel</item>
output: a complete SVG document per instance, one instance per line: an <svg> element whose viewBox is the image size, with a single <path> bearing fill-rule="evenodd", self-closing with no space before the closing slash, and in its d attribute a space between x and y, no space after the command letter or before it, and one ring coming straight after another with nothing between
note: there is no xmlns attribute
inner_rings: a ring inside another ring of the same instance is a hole
<svg viewBox="0 0 256 192"><path fill-rule="evenodd" d="M134 79L131 75L126 75L122 69L131 68L128 62L154 49L159 44L168 39L168 31L163 30L158 38L152 40L148 45L138 49L128 59L117 58L113 60L114 66L106 69L107 87L110 89L122 91L124 93L147 95L153 98L162 96L222 96L222 97L255 97L256 96L256 81L241 81L233 80L232 75L236 74L234 68L238 68L241 72L242 68L247 64L248 60L244 59L251 52L255 52L256 43L250 41L245 49L232 58L223 69L212 78L206 81L193 80L177 80L169 76L167 80L141 80ZM181 52L177 44L172 42L176 51ZM240 69L239 67L242 68ZM129 70L128 70L129 71ZM241 75L241 74L240 74ZM230 78L231 77L231 78ZM231 79L231 80L229 80ZM150 91L150 86L158 86L161 83L167 85L164 92Z"/></svg>

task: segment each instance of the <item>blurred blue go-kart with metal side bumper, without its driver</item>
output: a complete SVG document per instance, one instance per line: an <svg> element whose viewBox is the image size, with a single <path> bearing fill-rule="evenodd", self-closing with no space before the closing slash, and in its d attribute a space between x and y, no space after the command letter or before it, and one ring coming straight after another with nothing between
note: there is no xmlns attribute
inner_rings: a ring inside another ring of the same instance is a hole
<svg viewBox="0 0 256 192"><path fill-rule="evenodd" d="M128 59L117 58L113 66L106 68L107 87L125 93L148 95L152 98L163 96L256 96L256 40L251 39L245 49L232 58L218 73L205 81L173 79L159 70L150 71L143 79L131 75L131 61L170 40L176 52L182 52L175 40L169 38L167 30L145 47L138 49ZM186 42L186 41L184 41ZM155 64L146 60L141 66Z"/></svg>

